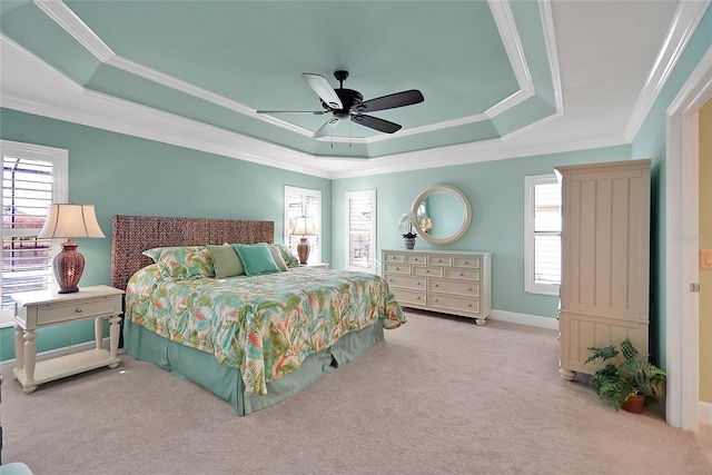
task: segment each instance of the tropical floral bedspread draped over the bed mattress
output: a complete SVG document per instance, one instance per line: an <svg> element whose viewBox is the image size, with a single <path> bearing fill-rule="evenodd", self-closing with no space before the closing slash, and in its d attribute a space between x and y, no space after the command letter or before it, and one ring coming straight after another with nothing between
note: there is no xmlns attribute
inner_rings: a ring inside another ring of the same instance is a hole
<svg viewBox="0 0 712 475"><path fill-rule="evenodd" d="M405 323L388 285L373 274L295 268L168 281L156 265L129 280L126 318L238 367L258 395L350 330L379 319L387 329Z"/></svg>

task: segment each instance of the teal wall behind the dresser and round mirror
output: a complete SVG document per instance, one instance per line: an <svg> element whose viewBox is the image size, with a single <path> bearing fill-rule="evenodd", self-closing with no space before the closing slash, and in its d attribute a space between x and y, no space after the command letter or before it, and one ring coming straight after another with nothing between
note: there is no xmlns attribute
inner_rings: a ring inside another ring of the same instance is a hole
<svg viewBox="0 0 712 475"><path fill-rule="evenodd" d="M346 191L376 189L377 259L380 249L403 249L398 217L411 210L425 188L451 185L462 190L473 209L467 234L449 246L416 239L416 249L484 250L492 257L492 306L497 310L556 318L558 297L524 291L524 177L551 174L557 165L630 159L630 147L609 147L566 154L431 168L398 174L334 180L333 266L345 266Z"/></svg>

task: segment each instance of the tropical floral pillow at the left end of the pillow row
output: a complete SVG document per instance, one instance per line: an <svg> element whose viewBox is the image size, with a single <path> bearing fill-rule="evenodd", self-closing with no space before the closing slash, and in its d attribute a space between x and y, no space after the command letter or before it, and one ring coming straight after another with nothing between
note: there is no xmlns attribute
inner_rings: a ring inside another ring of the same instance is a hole
<svg viewBox="0 0 712 475"><path fill-rule="evenodd" d="M142 254L156 261L164 278L184 280L215 277L212 255L205 246L156 247Z"/></svg>

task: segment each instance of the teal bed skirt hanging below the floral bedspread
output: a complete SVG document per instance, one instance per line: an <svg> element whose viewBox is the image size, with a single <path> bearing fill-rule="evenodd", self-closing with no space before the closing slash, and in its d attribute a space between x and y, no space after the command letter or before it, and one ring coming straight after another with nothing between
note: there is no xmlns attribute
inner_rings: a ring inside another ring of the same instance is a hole
<svg viewBox="0 0 712 475"><path fill-rule="evenodd" d="M220 365L208 353L166 339L128 319L123 323L123 345L129 356L150 362L176 377L204 387L228 402L239 415L254 413L297 394L383 339L380 320L348 333L334 346L308 356L295 372L267 383L267 394L257 396L245 390L238 368Z"/></svg>

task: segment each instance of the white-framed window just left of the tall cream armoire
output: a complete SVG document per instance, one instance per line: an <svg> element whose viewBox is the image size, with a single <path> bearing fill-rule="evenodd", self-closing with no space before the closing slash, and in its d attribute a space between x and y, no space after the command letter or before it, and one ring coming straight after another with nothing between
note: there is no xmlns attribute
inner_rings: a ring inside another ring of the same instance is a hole
<svg viewBox="0 0 712 475"><path fill-rule="evenodd" d="M524 177L524 289L558 295L561 185L554 174Z"/></svg>

